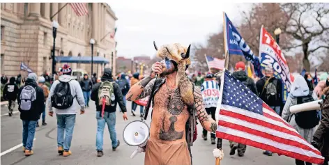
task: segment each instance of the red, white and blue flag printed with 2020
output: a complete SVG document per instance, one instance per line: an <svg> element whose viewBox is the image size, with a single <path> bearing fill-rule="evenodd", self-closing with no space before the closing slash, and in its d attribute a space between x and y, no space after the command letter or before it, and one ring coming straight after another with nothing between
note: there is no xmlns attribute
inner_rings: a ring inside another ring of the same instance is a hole
<svg viewBox="0 0 329 165"><path fill-rule="evenodd" d="M261 26L260 40L259 54L261 56L261 65L273 66L275 78L281 79L282 81L282 102L286 102L291 84L293 83L286 58L284 58L275 39L270 36L270 33L268 33L263 26Z"/></svg>

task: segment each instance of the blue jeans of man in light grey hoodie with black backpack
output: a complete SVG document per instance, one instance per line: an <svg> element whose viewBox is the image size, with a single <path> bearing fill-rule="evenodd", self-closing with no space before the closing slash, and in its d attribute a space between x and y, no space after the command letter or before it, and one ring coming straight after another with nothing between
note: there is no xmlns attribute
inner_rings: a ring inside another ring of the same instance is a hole
<svg viewBox="0 0 329 165"><path fill-rule="evenodd" d="M63 147L65 151L70 150L73 129L75 127L75 114L59 115L57 118L57 146ZM65 139L64 139L65 131Z"/></svg>

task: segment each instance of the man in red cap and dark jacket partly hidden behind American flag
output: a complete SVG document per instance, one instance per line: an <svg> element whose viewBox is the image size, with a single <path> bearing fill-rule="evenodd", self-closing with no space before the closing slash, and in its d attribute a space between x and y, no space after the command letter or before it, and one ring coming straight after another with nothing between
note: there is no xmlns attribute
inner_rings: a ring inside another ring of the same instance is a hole
<svg viewBox="0 0 329 165"><path fill-rule="evenodd" d="M257 88L254 84L254 80L252 78L247 76L247 73L245 72L245 63L243 61L239 61L236 63L236 71L233 72L233 76L241 81L243 85L250 88L250 91L252 93L255 93L257 95ZM245 150L247 150L247 145L242 143L236 143L234 141L229 141L229 146L231 148L229 155L234 155L236 153L235 150L238 150L238 156L243 157L245 155Z"/></svg>

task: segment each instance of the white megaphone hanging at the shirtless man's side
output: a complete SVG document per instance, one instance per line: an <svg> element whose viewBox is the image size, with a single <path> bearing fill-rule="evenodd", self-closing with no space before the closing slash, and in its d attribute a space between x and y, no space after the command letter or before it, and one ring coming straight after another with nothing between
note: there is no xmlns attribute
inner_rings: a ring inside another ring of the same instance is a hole
<svg viewBox="0 0 329 165"><path fill-rule="evenodd" d="M150 128L141 120L132 121L125 126L123 129L123 141L129 146L138 146L130 158L143 151L142 148L146 145L149 136Z"/></svg>

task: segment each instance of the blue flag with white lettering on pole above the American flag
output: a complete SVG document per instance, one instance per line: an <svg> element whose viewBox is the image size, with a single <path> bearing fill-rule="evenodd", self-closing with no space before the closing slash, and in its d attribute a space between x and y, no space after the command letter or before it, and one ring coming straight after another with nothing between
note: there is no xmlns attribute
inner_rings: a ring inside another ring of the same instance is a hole
<svg viewBox="0 0 329 165"><path fill-rule="evenodd" d="M257 77L263 77L261 73L261 65L259 63L259 58L254 55L254 52L245 43L240 33L236 30L236 27L232 24L224 13L224 40L225 40L225 51L229 51L229 55L240 55L245 56L247 61L251 61L254 65L254 72Z"/></svg>

